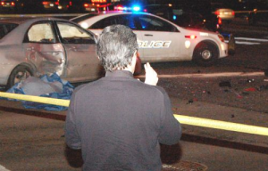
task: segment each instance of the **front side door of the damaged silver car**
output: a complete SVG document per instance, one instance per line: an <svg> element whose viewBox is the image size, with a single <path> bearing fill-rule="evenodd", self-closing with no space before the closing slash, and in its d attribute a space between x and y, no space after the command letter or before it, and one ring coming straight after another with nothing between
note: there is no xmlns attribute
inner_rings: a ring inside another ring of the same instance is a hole
<svg viewBox="0 0 268 171"><path fill-rule="evenodd" d="M57 21L66 52L66 78L69 81L92 80L100 77L100 61L96 57L93 35L74 24Z"/></svg>

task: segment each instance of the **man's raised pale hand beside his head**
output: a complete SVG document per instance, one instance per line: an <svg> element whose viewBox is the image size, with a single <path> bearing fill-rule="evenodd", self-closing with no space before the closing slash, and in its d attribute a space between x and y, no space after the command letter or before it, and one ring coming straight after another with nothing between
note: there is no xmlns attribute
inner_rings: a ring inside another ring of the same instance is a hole
<svg viewBox="0 0 268 171"><path fill-rule="evenodd" d="M146 79L145 84L147 85L157 85L158 77L157 73L155 72L155 69L153 69L150 65L150 63L144 64L144 68L146 71Z"/></svg>

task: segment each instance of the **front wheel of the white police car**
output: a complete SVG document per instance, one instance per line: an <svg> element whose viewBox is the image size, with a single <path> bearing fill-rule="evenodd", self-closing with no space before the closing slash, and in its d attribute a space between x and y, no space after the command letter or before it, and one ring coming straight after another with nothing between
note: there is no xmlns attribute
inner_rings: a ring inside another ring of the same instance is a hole
<svg viewBox="0 0 268 171"><path fill-rule="evenodd" d="M194 51L193 61L197 62L198 65L209 67L219 58L218 48L212 43L199 43Z"/></svg>

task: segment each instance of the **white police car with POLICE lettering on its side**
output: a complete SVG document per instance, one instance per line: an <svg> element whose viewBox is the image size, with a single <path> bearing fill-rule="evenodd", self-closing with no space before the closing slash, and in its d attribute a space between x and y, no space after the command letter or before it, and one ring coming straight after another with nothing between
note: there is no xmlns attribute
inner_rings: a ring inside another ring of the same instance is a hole
<svg viewBox="0 0 268 171"><path fill-rule="evenodd" d="M129 26L138 36L141 61L196 61L211 66L228 56L222 35L207 30L182 28L147 12L97 12L80 15L71 21L96 35L113 24Z"/></svg>

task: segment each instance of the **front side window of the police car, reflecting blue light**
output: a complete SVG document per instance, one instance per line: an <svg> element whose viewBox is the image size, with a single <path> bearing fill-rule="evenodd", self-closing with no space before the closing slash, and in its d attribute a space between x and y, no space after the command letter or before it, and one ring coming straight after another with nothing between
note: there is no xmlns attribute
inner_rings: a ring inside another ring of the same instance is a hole
<svg viewBox="0 0 268 171"><path fill-rule="evenodd" d="M169 22L153 16L140 15L138 19L141 30L178 32L178 29Z"/></svg>

